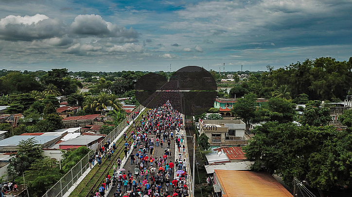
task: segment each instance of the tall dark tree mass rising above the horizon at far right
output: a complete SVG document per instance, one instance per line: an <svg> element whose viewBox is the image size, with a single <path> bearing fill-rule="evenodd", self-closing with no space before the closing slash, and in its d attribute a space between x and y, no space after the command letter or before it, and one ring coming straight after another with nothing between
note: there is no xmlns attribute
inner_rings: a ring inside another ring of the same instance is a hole
<svg viewBox="0 0 352 197"><path fill-rule="evenodd" d="M352 87L351 69L351 60L336 61L330 57L307 59L277 70L271 69L264 78L262 76L262 84L264 88L287 85L292 98L305 93L309 100L344 99Z"/></svg>

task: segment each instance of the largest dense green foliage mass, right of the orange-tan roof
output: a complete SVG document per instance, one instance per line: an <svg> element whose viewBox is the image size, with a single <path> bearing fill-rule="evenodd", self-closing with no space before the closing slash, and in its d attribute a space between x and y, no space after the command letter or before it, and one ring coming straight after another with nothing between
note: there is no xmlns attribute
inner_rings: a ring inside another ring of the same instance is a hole
<svg viewBox="0 0 352 197"><path fill-rule="evenodd" d="M254 170L265 167L286 184L297 177L318 189L329 189L336 183L351 185L351 157L344 158L351 155L351 146L347 147L351 135L342 135L332 126L299 127L291 122L266 122L253 133L256 135L243 150L247 159L254 160Z"/></svg>

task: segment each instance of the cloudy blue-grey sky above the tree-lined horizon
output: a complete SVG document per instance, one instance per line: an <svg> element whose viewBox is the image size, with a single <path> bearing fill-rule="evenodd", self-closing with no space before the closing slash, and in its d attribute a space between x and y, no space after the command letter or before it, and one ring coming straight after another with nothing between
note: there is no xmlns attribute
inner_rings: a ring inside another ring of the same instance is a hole
<svg viewBox="0 0 352 197"><path fill-rule="evenodd" d="M0 0L0 69L265 71L352 57L351 0Z"/></svg>

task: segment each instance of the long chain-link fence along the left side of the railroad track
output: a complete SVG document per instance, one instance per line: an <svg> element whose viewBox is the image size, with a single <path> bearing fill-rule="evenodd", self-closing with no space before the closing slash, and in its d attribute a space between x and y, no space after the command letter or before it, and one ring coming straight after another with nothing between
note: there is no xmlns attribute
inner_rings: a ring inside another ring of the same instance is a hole
<svg viewBox="0 0 352 197"><path fill-rule="evenodd" d="M132 113L130 113L116 128L114 128L114 130L106 135L105 138L110 138L110 140L113 141L117 136L119 136L119 134L121 134L123 129L128 126L127 121L128 123L133 121L132 115L135 114L135 112L141 112L143 108L144 106L142 105L136 107ZM70 171L60 179L60 181L56 182L54 186L43 195L43 197L63 197L73 183L76 182L89 168L88 160L90 155L94 154L96 149L102 147L104 141L105 140L103 139L100 143L95 144L88 154L84 156L74 167L72 167Z"/></svg>

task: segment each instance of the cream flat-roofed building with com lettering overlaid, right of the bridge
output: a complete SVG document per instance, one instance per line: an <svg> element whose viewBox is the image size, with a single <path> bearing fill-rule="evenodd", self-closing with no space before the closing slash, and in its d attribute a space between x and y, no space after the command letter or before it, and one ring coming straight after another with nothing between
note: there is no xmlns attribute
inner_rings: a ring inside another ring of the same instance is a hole
<svg viewBox="0 0 352 197"><path fill-rule="evenodd" d="M244 146L246 124L241 120L202 120L199 119L199 133L209 137L211 146Z"/></svg>

